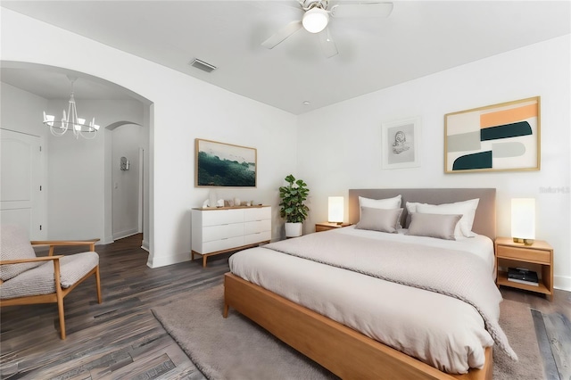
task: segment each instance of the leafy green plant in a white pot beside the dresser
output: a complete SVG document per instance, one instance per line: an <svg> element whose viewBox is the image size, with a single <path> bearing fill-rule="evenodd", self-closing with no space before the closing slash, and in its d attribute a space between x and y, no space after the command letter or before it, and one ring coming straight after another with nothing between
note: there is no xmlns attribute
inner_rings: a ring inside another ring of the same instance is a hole
<svg viewBox="0 0 571 380"><path fill-rule="evenodd" d="M295 179L293 175L285 177L287 186L279 187L281 210L279 215L285 218L285 236L294 237L302 235L303 220L307 218L310 208L305 205L310 189L302 179Z"/></svg>

